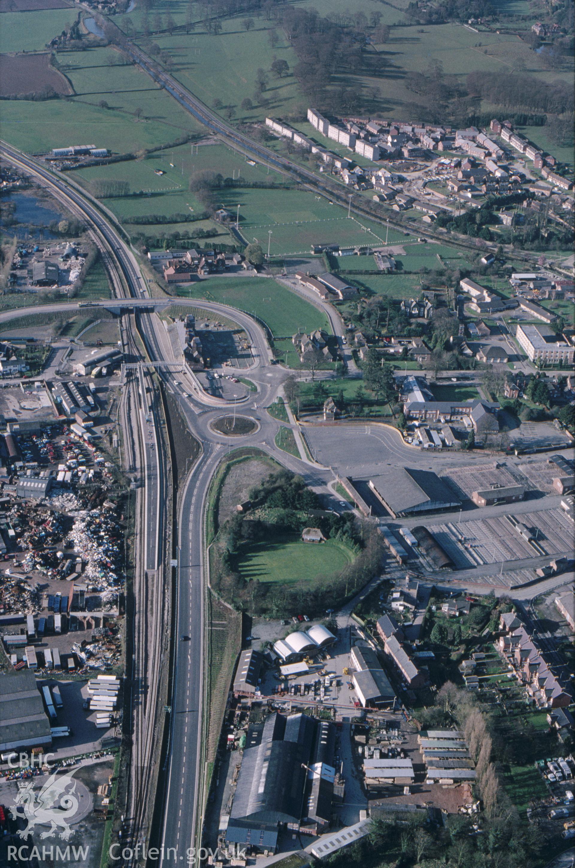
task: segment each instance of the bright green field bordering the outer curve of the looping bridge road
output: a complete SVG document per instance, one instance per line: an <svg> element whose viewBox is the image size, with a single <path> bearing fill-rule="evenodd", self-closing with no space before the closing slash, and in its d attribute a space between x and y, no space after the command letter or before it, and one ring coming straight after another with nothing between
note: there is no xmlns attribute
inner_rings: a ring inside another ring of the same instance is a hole
<svg viewBox="0 0 575 868"><path fill-rule="evenodd" d="M331 334L327 316L306 299L291 293L271 278L216 278L178 288L186 299L208 299L255 313L274 335L292 335L301 328L310 332L322 328Z"/></svg>

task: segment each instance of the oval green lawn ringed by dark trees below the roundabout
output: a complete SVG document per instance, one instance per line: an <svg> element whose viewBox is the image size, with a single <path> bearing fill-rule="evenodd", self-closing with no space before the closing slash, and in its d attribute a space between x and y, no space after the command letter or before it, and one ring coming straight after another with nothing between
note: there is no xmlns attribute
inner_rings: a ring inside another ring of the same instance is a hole
<svg viewBox="0 0 575 868"><path fill-rule="evenodd" d="M238 563L243 579L294 584L329 575L354 560L354 555L339 540L316 545L301 542L298 534L278 536L274 542L257 542L244 550Z"/></svg>

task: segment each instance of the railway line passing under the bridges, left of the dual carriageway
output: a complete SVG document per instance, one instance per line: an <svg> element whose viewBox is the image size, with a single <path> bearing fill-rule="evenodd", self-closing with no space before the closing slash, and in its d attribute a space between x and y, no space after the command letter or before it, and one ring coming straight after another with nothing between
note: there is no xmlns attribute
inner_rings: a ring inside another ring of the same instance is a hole
<svg viewBox="0 0 575 868"><path fill-rule="evenodd" d="M0 143L3 157L32 174L44 186L49 186L56 198L69 210L91 226L90 234L102 253L102 262L109 275L117 299L141 299L146 291L137 265L129 249L109 225L101 210L56 175L21 154L5 142ZM125 317L127 315L124 315ZM161 348L155 339L155 323L150 314L136 313L134 320L122 323L124 351L131 357L142 359L135 332L140 335L149 358L161 359ZM129 837L144 843L154 803L156 733L160 720L157 707L160 695L160 673L167 635L168 595L163 593L162 546L165 521L165 473L162 440L159 436L161 420L154 386L148 391L142 369L137 382L130 378L122 398L124 444L128 444L126 458L139 477L135 514L135 570L133 658L130 691L131 752L129 762L128 804ZM145 384L145 385L142 385ZM148 396L151 398L148 398ZM142 398L140 398L142 396ZM148 403L149 402L149 403ZM144 403L146 406L144 407Z"/></svg>

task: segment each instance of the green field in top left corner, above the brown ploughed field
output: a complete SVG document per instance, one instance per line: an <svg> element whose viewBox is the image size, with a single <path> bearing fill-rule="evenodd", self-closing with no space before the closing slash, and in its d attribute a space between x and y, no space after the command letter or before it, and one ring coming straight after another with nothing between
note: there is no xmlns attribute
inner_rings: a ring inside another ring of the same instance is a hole
<svg viewBox="0 0 575 868"><path fill-rule="evenodd" d="M0 16L0 53L42 51L53 36L76 21L78 10L52 9L34 12L3 12Z"/></svg>

